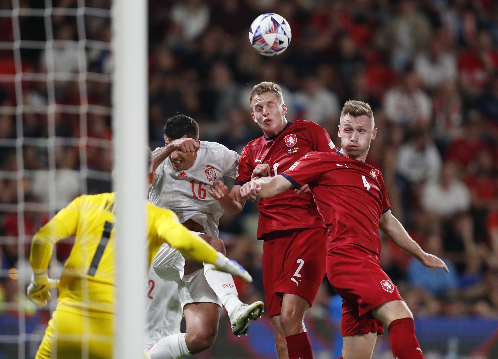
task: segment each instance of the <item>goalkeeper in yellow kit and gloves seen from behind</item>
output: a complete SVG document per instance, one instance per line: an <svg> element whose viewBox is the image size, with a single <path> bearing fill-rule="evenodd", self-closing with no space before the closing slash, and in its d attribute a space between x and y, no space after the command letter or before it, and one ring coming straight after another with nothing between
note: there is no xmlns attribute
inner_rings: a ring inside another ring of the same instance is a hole
<svg viewBox="0 0 498 359"><path fill-rule="evenodd" d="M149 151L150 153L150 151ZM147 210L148 266L163 243L196 261L251 281L237 262L179 224L170 210L144 201ZM33 237L33 270L28 297L47 304L49 289L58 284L57 308L52 313L36 359L111 359L114 321L115 194L82 195L60 210ZM60 282L47 276L54 244L75 236ZM144 243L145 244L145 243ZM58 283L59 282L59 283Z"/></svg>

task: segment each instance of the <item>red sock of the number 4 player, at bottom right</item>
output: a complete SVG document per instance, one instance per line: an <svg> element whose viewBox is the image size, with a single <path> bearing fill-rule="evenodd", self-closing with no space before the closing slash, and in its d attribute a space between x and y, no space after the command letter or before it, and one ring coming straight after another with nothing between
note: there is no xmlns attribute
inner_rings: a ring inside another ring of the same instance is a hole
<svg viewBox="0 0 498 359"><path fill-rule="evenodd" d="M424 359L420 344L415 337L415 322L412 318L393 320L387 330L394 358Z"/></svg>

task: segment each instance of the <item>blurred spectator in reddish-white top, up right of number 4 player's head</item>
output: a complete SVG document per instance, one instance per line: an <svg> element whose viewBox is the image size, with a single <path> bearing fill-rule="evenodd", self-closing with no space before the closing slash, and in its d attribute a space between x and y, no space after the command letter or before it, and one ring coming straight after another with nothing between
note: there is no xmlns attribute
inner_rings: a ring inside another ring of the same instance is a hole
<svg viewBox="0 0 498 359"><path fill-rule="evenodd" d="M392 123L409 128L428 127L431 99L420 89L420 81L413 70L403 74L400 86L387 91L384 111Z"/></svg>

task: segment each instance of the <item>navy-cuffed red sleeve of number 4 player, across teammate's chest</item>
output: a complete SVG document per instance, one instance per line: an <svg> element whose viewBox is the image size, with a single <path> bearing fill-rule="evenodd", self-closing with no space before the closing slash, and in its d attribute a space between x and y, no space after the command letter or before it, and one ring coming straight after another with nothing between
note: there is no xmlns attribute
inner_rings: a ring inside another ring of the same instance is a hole
<svg viewBox="0 0 498 359"><path fill-rule="evenodd" d="M281 175L288 179L295 187L301 188L304 184L317 179L324 172L322 160L318 152L308 152L294 162Z"/></svg>

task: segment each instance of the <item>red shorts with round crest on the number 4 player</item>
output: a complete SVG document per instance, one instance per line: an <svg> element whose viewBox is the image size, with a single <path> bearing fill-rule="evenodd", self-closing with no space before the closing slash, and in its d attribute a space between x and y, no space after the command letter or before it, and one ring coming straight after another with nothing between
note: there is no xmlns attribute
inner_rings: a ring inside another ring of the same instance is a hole
<svg viewBox="0 0 498 359"><path fill-rule="evenodd" d="M345 244L327 253L327 277L343 298L342 335L384 332L371 310L392 300L403 300L397 287L380 268L377 255L356 244Z"/></svg>

